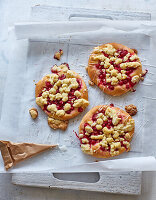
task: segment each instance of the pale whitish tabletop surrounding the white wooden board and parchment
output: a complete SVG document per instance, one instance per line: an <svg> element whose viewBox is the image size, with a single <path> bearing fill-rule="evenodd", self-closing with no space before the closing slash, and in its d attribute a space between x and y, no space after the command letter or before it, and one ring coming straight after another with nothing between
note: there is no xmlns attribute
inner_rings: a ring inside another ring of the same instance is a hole
<svg viewBox="0 0 156 200"><path fill-rule="evenodd" d="M7 73L7 46L8 27L14 22L27 21L31 7L38 4L53 6L68 6L82 8L100 8L113 10L144 11L152 13L152 20L156 19L155 0L3 0L0 1L0 84L5 88ZM0 91L0 101L2 100ZM1 110L1 107L0 107ZM121 196L96 192L82 192L69 190L48 190L40 188L27 188L11 184L11 174L0 174L0 200L70 200L70 199L106 199L106 200L155 200L156 199L156 173L146 172L143 174L141 196Z"/></svg>

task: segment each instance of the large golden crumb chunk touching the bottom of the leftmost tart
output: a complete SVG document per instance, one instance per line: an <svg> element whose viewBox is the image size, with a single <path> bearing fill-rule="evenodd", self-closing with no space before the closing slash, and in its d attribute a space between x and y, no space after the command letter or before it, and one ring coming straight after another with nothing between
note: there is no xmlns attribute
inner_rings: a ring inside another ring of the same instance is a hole
<svg viewBox="0 0 156 200"><path fill-rule="evenodd" d="M50 128L53 129L66 130L66 128L68 127L68 121L63 121L48 117L48 125L50 126Z"/></svg>

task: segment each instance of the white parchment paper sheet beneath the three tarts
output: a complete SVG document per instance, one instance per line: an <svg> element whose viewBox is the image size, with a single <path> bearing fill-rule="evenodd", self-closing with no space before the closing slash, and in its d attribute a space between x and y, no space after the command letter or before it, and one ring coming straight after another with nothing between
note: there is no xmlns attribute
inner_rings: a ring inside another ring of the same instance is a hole
<svg viewBox="0 0 156 200"><path fill-rule="evenodd" d="M79 140L73 131L78 133L78 126L84 114L93 106L114 103L124 109L125 105L135 104L138 114L134 116L136 129L131 142L131 151L124 153L111 162L120 170L154 170L155 141L155 24L145 22L55 22L55 23L27 23L15 26L18 39L29 39L28 49L25 41L15 40L12 33L10 66L5 89L2 118L1 139L14 142L34 142L59 144L58 149L45 152L35 158L19 164L13 172L22 171L64 171L70 167L76 171L89 171L86 163L94 163L92 170L109 169L109 162L96 159L81 152ZM85 67L94 46L117 42L138 50L144 69L148 69L144 82L136 87L136 92L121 97L111 97L96 86L88 85L89 77ZM63 49L61 61L53 59L58 49ZM26 51L27 50L27 51ZM24 59L21 59L24 58ZM88 87L90 106L76 118L70 120L68 129L63 132L52 130L47 124L47 116L38 108L39 117L33 121L29 116L29 108L35 104L35 82L50 73L55 63L67 62L70 68L78 72ZM138 160L134 157L140 157ZM129 159L130 160L129 160ZM149 160L151 162L149 162ZM121 162L124 160L125 164ZM132 165L135 163L135 165ZM141 163L141 165L139 164ZM136 167L138 164L138 168ZM81 165L81 167L73 167ZM90 165L89 165L90 166ZM113 164L112 164L113 168ZM111 168L111 169L112 169ZM116 168L114 168L116 169ZM3 170L3 166L0 166Z"/></svg>

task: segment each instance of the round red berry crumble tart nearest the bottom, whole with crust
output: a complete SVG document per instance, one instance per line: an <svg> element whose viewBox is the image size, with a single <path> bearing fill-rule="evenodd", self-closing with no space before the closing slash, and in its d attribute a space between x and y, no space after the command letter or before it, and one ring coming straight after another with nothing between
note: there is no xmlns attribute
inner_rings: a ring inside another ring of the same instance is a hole
<svg viewBox="0 0 156 200"><path fill-rule="evenodd" d="M134 119L124 110L111 105L96 106L80 123L81 150L98 158L128 152L134 128Z"/></svg>

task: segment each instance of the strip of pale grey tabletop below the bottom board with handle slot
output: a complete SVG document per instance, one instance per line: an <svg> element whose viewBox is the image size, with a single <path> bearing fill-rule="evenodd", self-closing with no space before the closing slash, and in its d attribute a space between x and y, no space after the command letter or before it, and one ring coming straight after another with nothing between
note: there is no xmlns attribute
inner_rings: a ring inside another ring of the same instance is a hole
<svg viewBox="0 0 156 200"><path fill-rule="evenodd" d="M141 196L15 186L11 185L11 175L0 175L0 200L155 200L155 188L153 172L143 174Z"/></svg>

